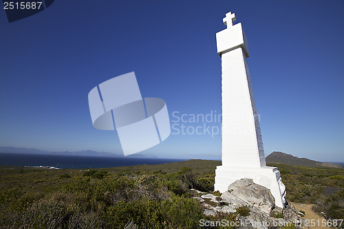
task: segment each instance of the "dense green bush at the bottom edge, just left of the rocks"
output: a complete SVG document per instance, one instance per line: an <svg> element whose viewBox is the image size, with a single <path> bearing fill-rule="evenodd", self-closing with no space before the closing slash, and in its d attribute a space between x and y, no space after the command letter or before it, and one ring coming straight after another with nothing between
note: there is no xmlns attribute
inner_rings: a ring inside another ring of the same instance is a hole
<svg viewBox="0 0 344 229"><path fill-rule="evenodd" d="M138 228L196 228L202 216L194 199L173 195L161 203L147 198L121 201L107 208L103 220L109 228L124 228L128 223Z"/></svg>

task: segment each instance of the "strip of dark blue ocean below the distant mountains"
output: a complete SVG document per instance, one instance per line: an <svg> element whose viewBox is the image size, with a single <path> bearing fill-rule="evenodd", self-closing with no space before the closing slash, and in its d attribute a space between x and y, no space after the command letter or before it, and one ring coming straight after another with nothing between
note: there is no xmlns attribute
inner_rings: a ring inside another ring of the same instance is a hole
<svg viewBox="0 0 344 229"><path fill-rule="evenodd" d="M55 168L111 168L138 164L164 164L185 159L92 157L76 155L45 155L28 153L0 153L0 165L50 166Z"/></svg>

